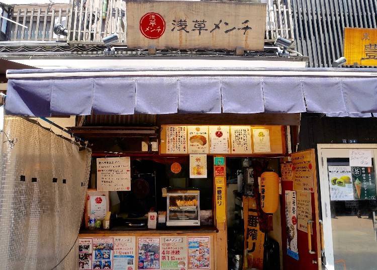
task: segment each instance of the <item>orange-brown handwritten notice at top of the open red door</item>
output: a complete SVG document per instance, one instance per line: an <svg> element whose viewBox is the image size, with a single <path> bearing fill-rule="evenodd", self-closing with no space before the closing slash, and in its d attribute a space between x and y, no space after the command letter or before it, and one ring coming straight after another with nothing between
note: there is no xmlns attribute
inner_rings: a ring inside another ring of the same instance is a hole
<svg viewBox="0 0 377 270"><path fill-rule="evenodd" d="M293 189L314 192L311 151L292 153Z"/></svg>

